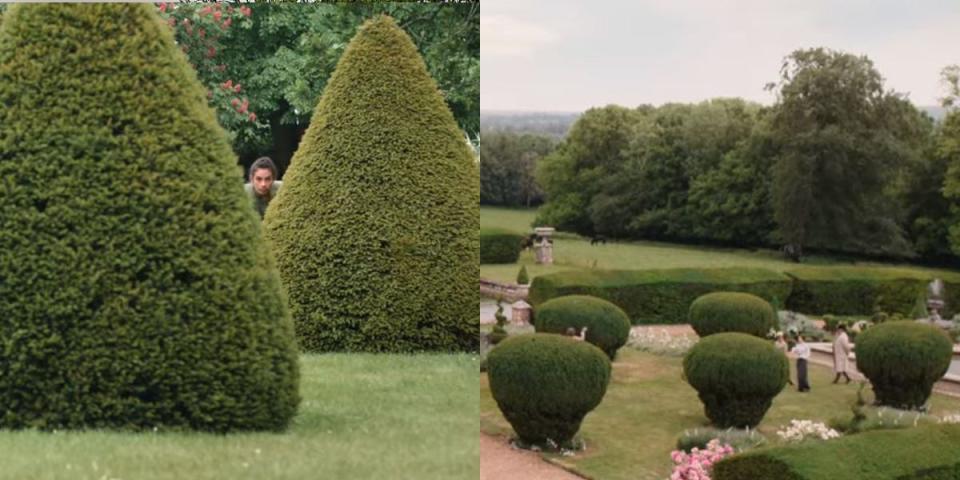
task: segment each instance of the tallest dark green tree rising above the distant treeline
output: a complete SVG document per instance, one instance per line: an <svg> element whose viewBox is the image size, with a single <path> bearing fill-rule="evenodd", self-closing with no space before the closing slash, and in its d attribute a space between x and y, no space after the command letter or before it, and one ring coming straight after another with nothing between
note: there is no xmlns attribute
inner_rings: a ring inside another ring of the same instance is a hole
<svg viewBox="0 0 960 480"><path fill-rule="evenodd" d="M786 57L770 88L780 145L771 198L782 241L798 252L909 254L888 187L912 148L898 127L916 109L883 90L868 58L823 48Z"/></svg>

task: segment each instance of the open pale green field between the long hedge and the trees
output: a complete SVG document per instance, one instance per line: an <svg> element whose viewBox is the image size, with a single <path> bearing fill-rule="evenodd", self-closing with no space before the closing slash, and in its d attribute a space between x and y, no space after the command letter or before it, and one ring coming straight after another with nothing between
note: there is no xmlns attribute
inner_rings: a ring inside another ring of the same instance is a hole
<svg viewBox="0 0 960 480"><path fill-rule="evenodd" d="M500 227L520 233L532 231L530 224L534 210L510 210L504 208L480 208L481 227ZM661 268L718 268L759 267L774 271L796 268L774 250L745 250L677 245L660 242L609 242L606 245L590 245L589 238L561 233L554 242L554 265L537 265L532 252L523 252L516 264L481 265L480 276L502 282L515 282L520 265L527 266L532 277L564 270L578 269L624 269L643 270ZM871 262L839 262L822 256L805 258L805 265L870 265L892 266ZM902 267L902 266L901 266ZM906 266L912 270L937 271L922 267Z"/></svg>

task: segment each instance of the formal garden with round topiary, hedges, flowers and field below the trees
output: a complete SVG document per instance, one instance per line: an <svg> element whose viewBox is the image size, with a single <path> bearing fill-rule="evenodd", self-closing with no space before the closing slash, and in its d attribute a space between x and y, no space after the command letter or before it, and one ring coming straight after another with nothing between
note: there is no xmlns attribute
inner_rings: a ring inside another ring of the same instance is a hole
<svg viewBox="0 0 960 480"><path fill-rule="evenodd" d="M955 478L960 398L931 393L955 332L912 320L928 300L952 316L956 273L564 232L545 265L522 248L535 215L481 209L481 259L516 244L481 278L515 284L524 270L533 306L530 325L501 311L503 328L482 327L498 342L484 349L482 432L597 479ZM772 336L829 348L838 325L864 377L835 384L824 361L799 392Z"/></svg>

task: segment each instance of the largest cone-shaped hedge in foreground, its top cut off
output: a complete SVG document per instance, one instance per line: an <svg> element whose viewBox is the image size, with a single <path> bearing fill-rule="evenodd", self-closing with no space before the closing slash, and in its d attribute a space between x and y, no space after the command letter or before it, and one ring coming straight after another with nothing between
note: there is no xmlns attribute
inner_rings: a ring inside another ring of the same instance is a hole
<svg viewBox="0 0 960 480"><path fill-rule="evenodd" d="M0 27L0 427L284 428L293 324L205 92L150 4Z"/></svg>

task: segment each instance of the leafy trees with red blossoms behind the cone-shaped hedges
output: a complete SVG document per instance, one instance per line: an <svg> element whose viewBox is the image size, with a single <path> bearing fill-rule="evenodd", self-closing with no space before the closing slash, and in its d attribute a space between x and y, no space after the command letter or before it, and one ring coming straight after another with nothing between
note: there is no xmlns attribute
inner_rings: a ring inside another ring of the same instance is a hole
<svg viewBox="0 0 960 480"><path fill-rule="evenodd" d="M211 105L229 120L234 149L247 165L268 154L286 171L338 59L357 27L379 14L395 18L413 37L460 129L479 135L479 2L166 3L158 9L174 19L177 39L189 40L181 46L213 93ZM213 35L219 38L208 45ZM220 98L227 80L242 85L235 92L239 105ZM234 121L240 105L256 118Z"/></svg>

